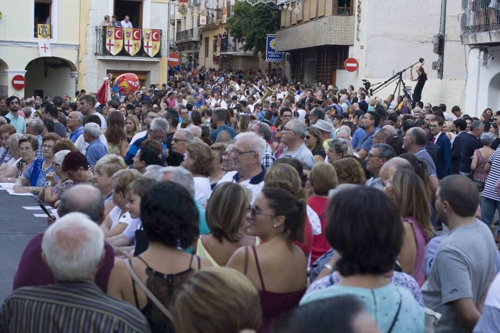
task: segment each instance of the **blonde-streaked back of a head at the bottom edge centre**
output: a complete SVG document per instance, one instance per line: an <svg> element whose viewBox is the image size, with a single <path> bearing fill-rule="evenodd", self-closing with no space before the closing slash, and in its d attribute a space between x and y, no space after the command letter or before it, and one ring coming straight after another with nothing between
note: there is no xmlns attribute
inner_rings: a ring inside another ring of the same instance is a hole
<svg viewBox="0 0 500 333"><path fill-rule="evenodd" d="M261 317L257 289L243 274L225 267L199 271L175 300L177 333L255 332Z"/></svg>

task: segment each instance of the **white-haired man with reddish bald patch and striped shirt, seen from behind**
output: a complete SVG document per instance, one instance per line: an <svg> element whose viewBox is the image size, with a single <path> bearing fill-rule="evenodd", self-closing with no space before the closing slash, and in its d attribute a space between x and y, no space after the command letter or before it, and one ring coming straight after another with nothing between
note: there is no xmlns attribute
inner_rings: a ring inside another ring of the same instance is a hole
<svg viewBox="0 0 500 333"><path fill-rule="evenodd" d="M86 215L70 213L43 234L42 260L55 283L14 291L0 311L1 332L149 332L140 311L94 283L104 261L104 234Z"/></svg>

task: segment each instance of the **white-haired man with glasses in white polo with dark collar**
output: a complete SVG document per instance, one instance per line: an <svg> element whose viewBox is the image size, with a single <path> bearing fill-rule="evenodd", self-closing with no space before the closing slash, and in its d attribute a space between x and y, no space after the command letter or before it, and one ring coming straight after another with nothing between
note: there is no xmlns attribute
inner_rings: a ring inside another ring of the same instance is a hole
<svg viewBox="0 0 500 333"><path fill-rule="evenodd" d="M265 153L267 143L255 133L245 132L236 135L231 149L231 161L237 172L231 179L222 178L219 184L225 181L237 183L252 193L252 200L264 187L265 169L262 167L262 156Z"/></svg>

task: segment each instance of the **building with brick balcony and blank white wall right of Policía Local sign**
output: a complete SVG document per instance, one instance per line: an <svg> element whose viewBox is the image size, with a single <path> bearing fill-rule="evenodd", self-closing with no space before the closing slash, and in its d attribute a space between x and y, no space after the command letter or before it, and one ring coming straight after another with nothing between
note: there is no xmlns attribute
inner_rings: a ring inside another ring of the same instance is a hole
<svg viewBox="0 0 500 333"><path fill-rule="evenodd" d="M431 69L432 61L438 58L432 52L432 39L439 32L440 3L303 0L299 14L281 10L276 49L285 52L288 77L308 84L320 79L338 87L362 87L363 79L373 84L384 82L422 57L428 75L422 101L464 107L465 50L456 19L460 13L458 1L447 1L443 79L438 79L437 71ZM344 69L347 57L357 59L357 71ZM410 82L409 69L402 77L411 90L416 82ZM394 88L395 84L389 84L373 95L384 99Z"/></svg>

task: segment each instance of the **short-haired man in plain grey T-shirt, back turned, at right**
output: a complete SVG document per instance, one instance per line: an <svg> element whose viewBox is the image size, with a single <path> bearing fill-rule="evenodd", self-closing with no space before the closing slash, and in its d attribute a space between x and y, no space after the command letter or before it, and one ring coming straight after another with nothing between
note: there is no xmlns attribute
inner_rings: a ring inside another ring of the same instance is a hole
<svg viewBox="0 0 500 333"><path fill-rule="evenodd" d="M471 332L479 320L481 296L495 274L495 243L489 228L475 218L477 187L468 178L439 182L436 211L450 233L437 249L422 286L427 308L442 315L435 332Z"/></svg>

